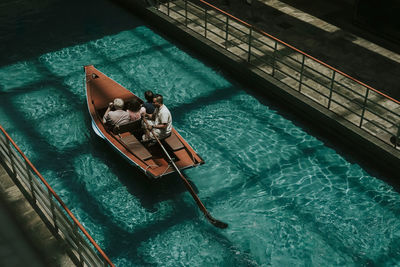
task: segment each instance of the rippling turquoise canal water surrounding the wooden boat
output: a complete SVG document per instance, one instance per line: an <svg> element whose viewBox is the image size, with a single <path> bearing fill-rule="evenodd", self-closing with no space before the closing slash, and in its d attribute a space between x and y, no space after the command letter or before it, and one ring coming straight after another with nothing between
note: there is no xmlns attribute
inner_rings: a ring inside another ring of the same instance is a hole
<svg viewBox="0 0 400 267"><path fill-rule="evenodd" d="M71 24L51 49L32 42L4 58L0 123L116 266L400 265L391 186L137 18L96 4L116 19L89 12L97 30ZM92 133L87 64L166 97L206 161L185 175L229 228L211 226L179 178L148 182Z"/></svg>

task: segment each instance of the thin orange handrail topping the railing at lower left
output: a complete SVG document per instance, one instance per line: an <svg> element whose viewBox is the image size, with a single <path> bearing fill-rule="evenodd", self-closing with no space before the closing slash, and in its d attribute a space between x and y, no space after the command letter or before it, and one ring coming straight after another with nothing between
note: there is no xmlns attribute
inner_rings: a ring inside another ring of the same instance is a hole
<svg viewBox="0 0 400 267"><path fill-rule="evenodd" d="M104 258L104 260L112 267L115 265L111 262L111 260L107 257L104 251L100 248L100 246L94 241L94 239L89 235L89 233L85 230L85 228L81 225L81 223L76 219L73 213L68 209L65 203L61 200L61 198L57 195L57 193L53 190L53 188L47 183L47 181L43 178L43 176L39 173L39 171L35 168L35 166L30 162L30 160L25 156L25 154L21 151L21 149L17 146L14 140L8 135L8 133L4 130L4 128L0 125L0 130L3 132L4 136L11 142L11 144L15 147L18 153L23 157L25 162L29 165L29 167L33 170L33 172L39 177L39 179L43 182L46 188L51 192L51 194L57 199L58 203L61 207L67 212L67 214L71 217L74 223L78 226L78 228L83 232L83 234L89 239L90 243L97 249L100 255Z"/></svg>

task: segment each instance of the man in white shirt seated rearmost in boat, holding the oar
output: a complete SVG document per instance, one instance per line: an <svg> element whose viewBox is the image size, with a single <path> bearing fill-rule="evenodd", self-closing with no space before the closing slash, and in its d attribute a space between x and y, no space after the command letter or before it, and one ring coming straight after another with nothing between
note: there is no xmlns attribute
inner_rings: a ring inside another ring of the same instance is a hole
<svg viewBox="0 0 400 267"><path fill-rule="evenodd" d="M143 135L143 141L150 141L155 139L153 133L160 139L166 138L171 135L172 131L172 117L171 112L163 104L163 96L155 95L153 98L153 104L156 107L153 114L146 114L147 127L145 127L146 133ZM146 126L146 125L145 125Z"/></svg>

